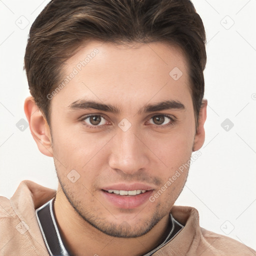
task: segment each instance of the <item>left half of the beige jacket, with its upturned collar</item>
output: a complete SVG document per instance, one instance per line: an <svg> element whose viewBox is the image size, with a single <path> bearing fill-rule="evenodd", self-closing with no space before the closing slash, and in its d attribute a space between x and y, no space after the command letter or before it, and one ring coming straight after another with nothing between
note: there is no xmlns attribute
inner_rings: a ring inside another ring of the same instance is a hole
<svg viewBox="0 0 256 256"><path fill-rule="evenodd" d="M0 255L48 255L35 208L54 194L55 190L24 180L10 199L0 196Z"/></svg>

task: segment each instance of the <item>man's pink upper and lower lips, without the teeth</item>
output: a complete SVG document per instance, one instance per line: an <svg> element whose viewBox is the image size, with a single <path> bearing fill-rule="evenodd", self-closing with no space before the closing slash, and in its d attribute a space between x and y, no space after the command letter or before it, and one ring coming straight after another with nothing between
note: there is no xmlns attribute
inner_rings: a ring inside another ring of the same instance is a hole
<svg viewBox="0 0 256 256"><path fill-rule="evenodd" d="M144 193L140 193L137 195L120 195L115 193L108 193L106 190L147 190ZM103 187L101 190L102 196L106 198L106 200L117 208L122 209L134 209L138 208L142 204L148 201L148 198L153 192L153 188L146 184L141 183L133 183L133 184L113 184L106 187Z"/></svg>

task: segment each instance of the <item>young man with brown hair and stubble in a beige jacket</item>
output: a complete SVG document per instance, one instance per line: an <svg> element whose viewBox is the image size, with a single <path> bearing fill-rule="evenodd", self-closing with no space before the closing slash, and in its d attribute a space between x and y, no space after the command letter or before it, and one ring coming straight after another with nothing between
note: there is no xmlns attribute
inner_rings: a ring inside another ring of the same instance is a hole
<svg viewBox="0 0 256 256"><path fill-rule="evenodd" d="M59 182L1 197L1 255L256 255L173 206L206 119L189 0L52 0L24 63L25 114Z"/></svg>

